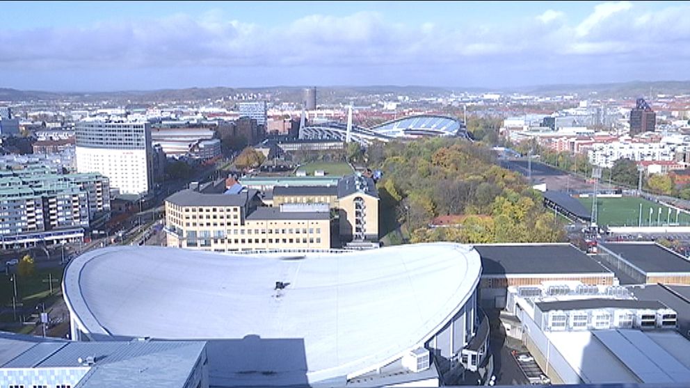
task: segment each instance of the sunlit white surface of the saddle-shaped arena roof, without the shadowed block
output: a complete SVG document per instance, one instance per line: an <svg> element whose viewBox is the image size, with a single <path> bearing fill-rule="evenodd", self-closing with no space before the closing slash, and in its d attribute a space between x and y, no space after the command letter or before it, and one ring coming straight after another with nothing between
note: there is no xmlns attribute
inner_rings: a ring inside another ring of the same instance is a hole
<svg viewBox="0 0 690 388"><path fill-rule="evenodd" d="M84 333L302 339L313 382L424 346L481 273L476 250L451 243L291 256L105 248L70 263L63 291ZM276 282L287 286L276 291Z"/></svg>

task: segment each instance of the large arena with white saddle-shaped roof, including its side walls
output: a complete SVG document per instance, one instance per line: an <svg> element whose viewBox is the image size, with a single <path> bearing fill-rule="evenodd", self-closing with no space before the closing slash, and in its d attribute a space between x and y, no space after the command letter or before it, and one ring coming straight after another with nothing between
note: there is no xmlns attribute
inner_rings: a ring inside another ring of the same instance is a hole
<svg viewBox="0 0 690 388"><path fill-rule="evenodd" d="M430 386L486 361L480 274L479 253L451 243L272 254L118 246L74 259L63 295L75 340L208 341L212 387Z"/></svg>

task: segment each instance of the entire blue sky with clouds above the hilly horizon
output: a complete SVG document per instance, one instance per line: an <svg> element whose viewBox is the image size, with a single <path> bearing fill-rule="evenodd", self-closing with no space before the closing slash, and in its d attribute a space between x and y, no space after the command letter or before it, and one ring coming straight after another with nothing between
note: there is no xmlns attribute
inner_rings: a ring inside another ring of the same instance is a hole
<svg viewBox="0 0 690 388"><path fill-rule="evenodd" d="M12 2L0 88L690 79L690 2Z"/></svg>

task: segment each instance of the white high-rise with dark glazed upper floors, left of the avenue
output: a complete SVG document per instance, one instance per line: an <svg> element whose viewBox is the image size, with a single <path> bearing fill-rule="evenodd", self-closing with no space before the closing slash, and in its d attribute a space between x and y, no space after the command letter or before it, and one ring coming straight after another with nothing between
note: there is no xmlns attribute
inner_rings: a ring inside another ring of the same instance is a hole
<svg viewBox="0 0 690 388"><path fill-rule="evenodd" d="M79 122L77 172L99 172L121 194L143 195L152 187L148 122Z"/></svg>

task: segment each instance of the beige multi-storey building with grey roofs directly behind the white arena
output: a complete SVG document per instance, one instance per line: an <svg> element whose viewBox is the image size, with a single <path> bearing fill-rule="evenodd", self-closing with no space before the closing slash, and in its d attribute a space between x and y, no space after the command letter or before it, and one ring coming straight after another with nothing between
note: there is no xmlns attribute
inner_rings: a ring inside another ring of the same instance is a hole
<svg viewBox="0 0 690 388"><path fill-rule="evenodd" d="M330 210L319 204L263 207L258 191L225 184L188 188L166 199L168 246L233 252L330 248Z"/></svg>

